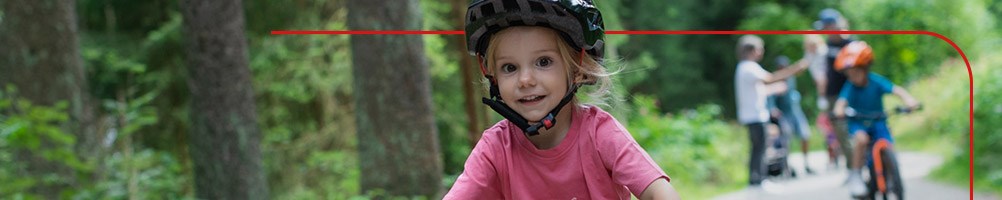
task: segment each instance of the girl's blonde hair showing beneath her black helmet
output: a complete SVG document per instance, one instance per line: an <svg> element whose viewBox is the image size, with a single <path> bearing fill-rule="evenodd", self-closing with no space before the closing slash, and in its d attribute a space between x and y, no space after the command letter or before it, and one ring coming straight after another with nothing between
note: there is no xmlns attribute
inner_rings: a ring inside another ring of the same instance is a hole
<svg viewBox="0 0 1002 200"><path fill-rule="evenodd" d="M557 34L556 30L547 28L549 34L553 34L554 38L561 38ZM486 72L487 74L494 74L495 67L495 54L498 49L498 45L501 44L500 37L496 37L498 34L506 30L498 31L492 36L487 44L487 57L486 59ZM598 86L594 90L586 92L590 99L590 104L605 105L605 100L611 96L612 79L611 76L618 71L608 72L605 70L605 66L602 65L598 59L593 57L591 54L584 53L584 58L581 58L581 51L574 50L566 41L562 39L557 39L557 52L560 54L560 59L562 59L567 64L564 69L567 71L567 87L570 84L594 84ZM575 80L578 75L582 76L581 80ZM485 80L486 81L486 80ZM485 86L490 86L490 83L484 84ZM583 89L583 87L578 88L578 90ZM570 91L568 91L570 92ZM577 105L577 97L571 101L571 104Z"/></svg>

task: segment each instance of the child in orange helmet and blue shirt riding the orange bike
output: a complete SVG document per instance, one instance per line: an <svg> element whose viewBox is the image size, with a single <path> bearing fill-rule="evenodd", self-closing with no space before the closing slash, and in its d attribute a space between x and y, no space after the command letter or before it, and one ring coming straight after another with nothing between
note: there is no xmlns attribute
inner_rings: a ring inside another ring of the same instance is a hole
<svg viewBox="0 0 1002 200"><path fill-rule="evenodd" d="M839 118L845 117L848 107L852 108L857 116L877 116L876 120L870 122L856 119L848 121L849 133L856 143L849 174L849 191L853 196L863 196L867 192L860 169L864 164L863 158L870 141L883 138L894 143L887 127L884 94L897 95L910 109L919 106L919 102L904 88L895 86L887 78L870 71L873 58L873 49L866 42L858 41L846 45L835 61L836 70L845 73L849 78L842 87L839 100L835 102L835 115Z"/></svg>

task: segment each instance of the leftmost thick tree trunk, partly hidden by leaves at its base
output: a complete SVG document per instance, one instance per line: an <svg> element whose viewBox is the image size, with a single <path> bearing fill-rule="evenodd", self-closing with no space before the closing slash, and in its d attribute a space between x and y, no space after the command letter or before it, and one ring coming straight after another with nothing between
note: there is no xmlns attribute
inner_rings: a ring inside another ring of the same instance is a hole
<svg viewBox="0 0 1002 200"><path fill-rule="evenodd" d="M67 102L69 120L60 128L75 136L77 155L90 158L98 139L77 39L76 2L4 0L0 9L0 90L13 85L18 96L38 106ZM32 193L54 198L76 184L72 169L35 153L24 150L15 159L25 161L28 175L55 172L62 181L32 188Z"/></svg>

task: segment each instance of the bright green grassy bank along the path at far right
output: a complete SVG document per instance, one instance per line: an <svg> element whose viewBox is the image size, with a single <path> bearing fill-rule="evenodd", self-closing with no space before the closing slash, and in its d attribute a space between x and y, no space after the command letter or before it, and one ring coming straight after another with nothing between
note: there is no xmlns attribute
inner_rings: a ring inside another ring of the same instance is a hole
<svg viewBox="0 0 1002 200"><path fill-rule="evenodd" d="M1002 105L998 88L1002 87L1002 54L992 53L972 61L975 85L975 183L976 191L1002 196L1002 170L997 150L1002 137L999 117L993 114ZM898 144L906 150L933 152L943 155L946 162L932 174L933 180L969 186L969 81L963 60L946 62L940 73L907 85L912 94L924 103L925 109L908 116L892 118L890 123ZM987 95L987 96L986 96ZM897 99L888 104L900 104ZM994 116L994 118L993 118ZM987 122L987 123L986 123ZM992 147L994 146L994 147ZM994 150L992 150L994 149Z"/></svg>

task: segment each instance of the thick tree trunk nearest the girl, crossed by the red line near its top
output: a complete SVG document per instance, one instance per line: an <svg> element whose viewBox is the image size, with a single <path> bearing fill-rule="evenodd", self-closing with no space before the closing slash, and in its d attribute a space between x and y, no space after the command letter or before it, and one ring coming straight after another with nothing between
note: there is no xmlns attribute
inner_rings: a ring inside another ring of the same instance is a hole
<svg viewBox="0 0 1002 200"><path fill-rule="evenodd" d="M420 30L417 0L353 0L352 30ZM353 35L352 59L363 193L440 198L442 160L424 41Z"/></svg>

